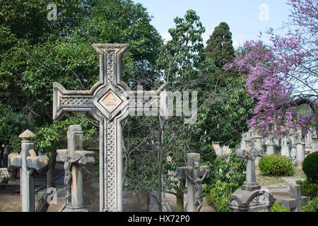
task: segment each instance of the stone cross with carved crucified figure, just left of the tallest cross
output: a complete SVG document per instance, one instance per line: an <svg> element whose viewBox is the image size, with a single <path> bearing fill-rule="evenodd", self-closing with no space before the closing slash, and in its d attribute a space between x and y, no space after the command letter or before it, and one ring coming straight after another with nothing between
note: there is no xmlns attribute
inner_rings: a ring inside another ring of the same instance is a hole
<svg viewBox="0 0 318 226"><path fill-rule="evenodd" d="M71 125L67 131L67 149L57 150L57 162L64 163L65 208L62 212L88 212L83 198L83 165L95 163L95 152L83 150L83 131Z"/></svg>

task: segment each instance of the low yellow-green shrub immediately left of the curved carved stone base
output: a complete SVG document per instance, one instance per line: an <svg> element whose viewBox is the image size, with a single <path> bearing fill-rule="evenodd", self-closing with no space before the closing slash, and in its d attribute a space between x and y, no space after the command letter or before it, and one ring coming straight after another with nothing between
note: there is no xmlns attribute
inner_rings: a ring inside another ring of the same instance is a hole
<svg viewBox="0 0 318 226"><path fill-rule="evenodd" d="M235 190L238 189L234 184L216 182L216 184L213 184L213 189L207 194L206 201L218 212L230 212L226 201L235 191L233 191L233 188L235 188Z"/></svg>

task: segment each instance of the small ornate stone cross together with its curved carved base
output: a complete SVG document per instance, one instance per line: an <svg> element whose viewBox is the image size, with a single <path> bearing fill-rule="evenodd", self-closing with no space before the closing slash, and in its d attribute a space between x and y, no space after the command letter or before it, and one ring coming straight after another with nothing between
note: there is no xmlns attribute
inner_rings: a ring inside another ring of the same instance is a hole
<svg viewBox="0 0 318 226"><path fill-rule="evenodd" d="M233 212L270 212L275 198L257 183L255 160L264 156L263 148L254 148L254 139L247 138L247 148L237 149L237 157L247 160L246 181L226 201Z"/></svg>

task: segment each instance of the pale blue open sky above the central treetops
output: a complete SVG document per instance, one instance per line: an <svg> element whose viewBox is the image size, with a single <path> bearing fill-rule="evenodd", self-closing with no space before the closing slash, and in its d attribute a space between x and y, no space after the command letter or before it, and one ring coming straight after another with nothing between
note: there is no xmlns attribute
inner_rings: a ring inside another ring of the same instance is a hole
<svg viewBox="0 0 318 226"><path fill-rule="evenodd" d="M220 22L226 22L232 32L235 48L247 40L261 40L269 43L265 34L269 28L281 28L288 20L290 6L286 0L133 0L143 4L153 16L151 24L165 40L170 40L169 28L174 28L174 18L184 17L189 9L196 11L206 28L204 44Z"/></svg>

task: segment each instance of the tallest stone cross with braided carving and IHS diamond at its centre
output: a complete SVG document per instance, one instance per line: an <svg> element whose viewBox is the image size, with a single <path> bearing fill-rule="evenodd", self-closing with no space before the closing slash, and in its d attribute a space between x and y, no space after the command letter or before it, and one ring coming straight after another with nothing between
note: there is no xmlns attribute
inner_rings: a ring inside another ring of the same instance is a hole
<svg viewBox="0 0 318 226"><path fill-rule="evenodd" d="M131 91L121 81L122 57L129 44L93 44L100 54L100 81L90 90L66 90L53 85L53 119L66 112L90 112L100 121L100 211L122 211L122 121L129 114L166 115L167 96L157 91ZM135 98L137 97L137 98ZM159 106L160 103L160 106ZM146 107L145 107L146 106ZM164 116L165 117L165 116Z"/></svg>

